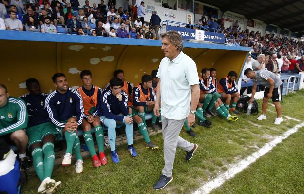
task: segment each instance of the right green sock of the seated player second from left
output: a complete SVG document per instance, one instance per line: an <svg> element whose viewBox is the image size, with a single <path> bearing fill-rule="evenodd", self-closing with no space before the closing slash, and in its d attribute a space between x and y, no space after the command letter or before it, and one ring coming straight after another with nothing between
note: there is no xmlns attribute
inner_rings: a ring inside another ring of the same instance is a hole
<svg viewBox="0 0 304 194"><path fill-rule="evenodd" d="M44 178L51 178L55 163L54 143L45 143L42 150L44 153Z"/></svg>

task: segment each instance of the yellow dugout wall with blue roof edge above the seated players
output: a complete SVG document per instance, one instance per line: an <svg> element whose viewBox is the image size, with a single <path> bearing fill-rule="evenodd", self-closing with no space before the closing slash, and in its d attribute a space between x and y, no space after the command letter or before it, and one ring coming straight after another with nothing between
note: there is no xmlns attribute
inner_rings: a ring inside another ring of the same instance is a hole
<svg viewBox="0 0 304 194"><path fill-rule="evenodd" d="M116 69L123 69L125 80L137 85L141 76L151 74L164 57L160 40L44 34L0 31L0 83L12 96L28 93L27 78L37 78L41 91L55 87L51 77L63 72L69 86L80 86L80 71L91 70L93 84L103 88ZM197 64L217 69L220 79L230 70L241 73L249 47L184 42L184 53Z"/></svg>

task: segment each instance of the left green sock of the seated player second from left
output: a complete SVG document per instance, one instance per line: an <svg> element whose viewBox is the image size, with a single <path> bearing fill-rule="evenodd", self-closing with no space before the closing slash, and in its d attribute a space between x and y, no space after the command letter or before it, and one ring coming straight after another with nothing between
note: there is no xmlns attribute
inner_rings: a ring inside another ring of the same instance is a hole
<svg viewBox="0 0 304 194"><path fill-rule="evenodd" d="M32 151L33 165L41 182L44 180L44 163L43 163L43 151L41 148L35 148Z"/></svg>

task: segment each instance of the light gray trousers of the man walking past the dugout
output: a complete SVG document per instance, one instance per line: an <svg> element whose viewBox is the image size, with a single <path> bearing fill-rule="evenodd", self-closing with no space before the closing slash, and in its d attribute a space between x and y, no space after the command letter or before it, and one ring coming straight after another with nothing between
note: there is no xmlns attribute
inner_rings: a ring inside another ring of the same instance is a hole
<svg viewBox="0 0 304 194"><path fill-rule="evenodd" d="M189 143L185 139L179 136L182 130L185 119L183 120L171 120L162 116L162 128L164 139L164 159L165 166L163 168L163 175L167 177L172 176L173 163L175 159L176 147L191 151L194 148L193 143Z"/></svg>

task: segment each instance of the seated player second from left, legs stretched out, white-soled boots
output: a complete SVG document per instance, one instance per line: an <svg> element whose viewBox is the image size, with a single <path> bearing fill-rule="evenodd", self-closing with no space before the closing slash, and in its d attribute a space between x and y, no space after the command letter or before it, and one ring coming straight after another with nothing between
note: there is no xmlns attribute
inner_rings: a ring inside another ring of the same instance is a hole
<svg viewBox="0 0 304 194"><path fill-rule="evenodd" d="M29 78L25 83L29 93L20 98L25 101L29 114L26 134L29 137L28 147L32 152L33 165L41 181L38 193L51 193L61 184L60 181L51 179L55 162L54 141L60 134L46 110L47 95L41 93L38 80Z"/></svg>

